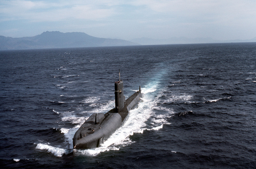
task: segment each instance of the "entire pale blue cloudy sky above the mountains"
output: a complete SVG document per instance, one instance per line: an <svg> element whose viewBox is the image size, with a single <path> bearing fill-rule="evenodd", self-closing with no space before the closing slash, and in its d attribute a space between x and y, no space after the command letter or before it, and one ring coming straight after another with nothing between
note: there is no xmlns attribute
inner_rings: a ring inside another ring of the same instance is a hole
<svg viewBox="0 0 256 169"><path fill-rule="evenodd" d="M0 0L0 35L84 32L104 38L256 37L256 0Z"/></svg>

